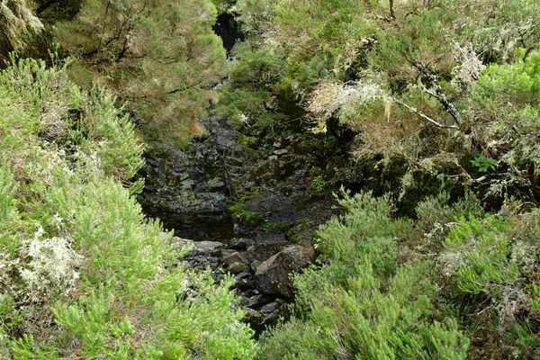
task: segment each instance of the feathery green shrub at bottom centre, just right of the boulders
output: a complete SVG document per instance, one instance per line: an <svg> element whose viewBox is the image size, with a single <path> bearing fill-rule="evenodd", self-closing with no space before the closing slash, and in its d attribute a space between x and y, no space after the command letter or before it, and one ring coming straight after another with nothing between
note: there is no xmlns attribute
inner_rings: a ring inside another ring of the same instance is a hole
<svg viewBox="0 0 540 360"><path fill-rule="evenodd" d="M369 193L340 204L347 213L320 229L322 263L294 278L300 318L267 332L259 358L464 359L469 340L457 322L435 320L433 264L396 263L395 237L411 222Z"/></svg>

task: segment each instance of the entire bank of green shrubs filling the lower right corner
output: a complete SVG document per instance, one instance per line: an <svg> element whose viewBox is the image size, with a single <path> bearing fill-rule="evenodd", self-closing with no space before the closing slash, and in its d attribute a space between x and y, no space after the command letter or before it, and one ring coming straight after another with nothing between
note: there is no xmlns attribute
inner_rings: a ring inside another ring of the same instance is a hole
<svg viewBox="0 0 540 360"><path fill-rule="evenodd" d="M420 202L413 222L388 197L346 193L320 264L295 278L298 319L266 334L260 358L539 356L538 211L446 202Z"/></svg>

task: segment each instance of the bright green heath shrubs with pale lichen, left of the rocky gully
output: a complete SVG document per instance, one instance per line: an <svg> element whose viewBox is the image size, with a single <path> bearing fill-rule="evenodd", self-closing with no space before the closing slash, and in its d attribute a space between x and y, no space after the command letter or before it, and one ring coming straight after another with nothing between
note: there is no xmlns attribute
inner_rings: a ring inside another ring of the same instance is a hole
<svg viewBox="0 0 540 360"><path fill-rule="evenodd" d="M131 196L142 148L112 96L35 60L0 94L0 357L250 358L230 280L175 265Z"/></svg>

